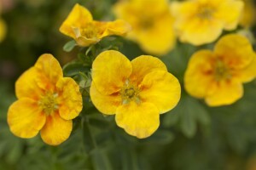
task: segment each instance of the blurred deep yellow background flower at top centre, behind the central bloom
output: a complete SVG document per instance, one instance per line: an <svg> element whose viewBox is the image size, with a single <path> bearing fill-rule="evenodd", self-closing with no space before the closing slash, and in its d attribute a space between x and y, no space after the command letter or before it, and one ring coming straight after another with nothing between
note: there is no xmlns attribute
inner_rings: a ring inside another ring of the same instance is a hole
<svg viewBox="0 0 256 170"><path fill-rule="evenodd" d="M120 1L113 10L117 17L129 22L127 37L138 42L149 54L166 54L175 45L173 17L167 0Z"/></svg>

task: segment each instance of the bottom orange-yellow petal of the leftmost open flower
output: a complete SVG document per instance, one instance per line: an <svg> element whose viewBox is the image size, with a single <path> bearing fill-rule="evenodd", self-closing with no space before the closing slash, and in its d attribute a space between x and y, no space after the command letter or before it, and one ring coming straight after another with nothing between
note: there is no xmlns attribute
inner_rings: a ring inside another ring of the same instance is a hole
<svg viewBox="0 0 256 170"><path fill-rule="evenodd" d="M46 144L58 145L68 139L72 131L73 122L61 118L58 113L47 116L41 130L41 138Z"/></svg>

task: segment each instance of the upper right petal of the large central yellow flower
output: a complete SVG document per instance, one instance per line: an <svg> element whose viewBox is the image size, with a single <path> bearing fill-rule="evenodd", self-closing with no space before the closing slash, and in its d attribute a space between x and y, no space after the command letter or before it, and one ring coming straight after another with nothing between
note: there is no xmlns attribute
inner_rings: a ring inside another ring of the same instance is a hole
<svg viewBox="0 0 256 170"><path fill-rule="evenodd" d="M131 60L131 82L143 82L143 78L152 71L167 71L166 65L158 58L150 55L141 55Z"/></svg>

